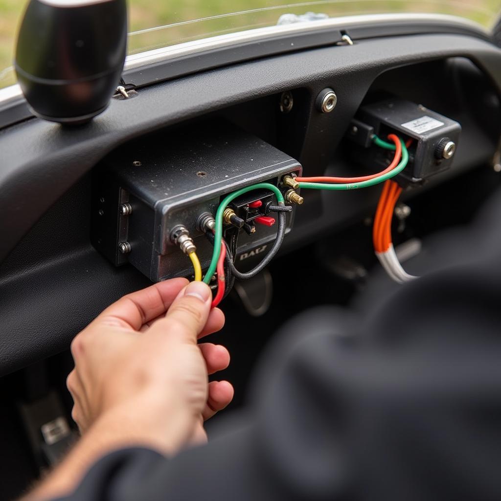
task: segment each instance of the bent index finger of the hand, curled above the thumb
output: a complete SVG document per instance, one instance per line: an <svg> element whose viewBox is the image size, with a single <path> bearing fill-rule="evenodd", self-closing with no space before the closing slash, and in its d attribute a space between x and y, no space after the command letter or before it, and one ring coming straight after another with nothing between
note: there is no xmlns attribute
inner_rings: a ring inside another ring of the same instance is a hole
<svg viewBox="0 0 501 501"><path fill-rule="evenodd" d="M106 308L93 323L138 331L142 325L163 315L188 281L178 278L128 294Z"/></svg>

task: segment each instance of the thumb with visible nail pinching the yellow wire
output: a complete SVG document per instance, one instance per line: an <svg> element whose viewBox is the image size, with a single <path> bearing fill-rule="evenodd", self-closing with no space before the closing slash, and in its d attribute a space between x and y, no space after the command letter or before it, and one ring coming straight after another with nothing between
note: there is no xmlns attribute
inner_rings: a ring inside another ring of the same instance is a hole
<svg viewBox="0 0 501 501"><path fill-rule="evenodd" d="M162 334L168 331L169 337L176 336L181 342L196 344L207 323L211 301L209 286L191 282L179 293L164 319L156 322L151 330Z"/></svg>

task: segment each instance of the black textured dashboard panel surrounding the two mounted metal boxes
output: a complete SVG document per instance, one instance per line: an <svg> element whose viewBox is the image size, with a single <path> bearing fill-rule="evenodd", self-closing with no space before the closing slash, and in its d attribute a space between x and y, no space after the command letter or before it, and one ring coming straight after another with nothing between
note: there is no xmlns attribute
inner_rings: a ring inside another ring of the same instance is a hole
<svg viewBox="0 0 501 501"><path fill-rule="evenodd" d="M148 283L90 243L91 171L124 143L161 144L172 128L189 134L194 122L223 119L299 160L304 175L346 175L353 172L344 140L350 120L363 102L395 95L461 123L454 167L433 186L492 158L500 85L501 51L486 40L379 37L144 87L72 129L30 119L1 130L0 374L63 350L104 306ZM315 99L326 87L338 102L322 114ZM288 114L279 110L284 91L294 96ZM308 193L284 252L370 213L378 193Z"/></svg>

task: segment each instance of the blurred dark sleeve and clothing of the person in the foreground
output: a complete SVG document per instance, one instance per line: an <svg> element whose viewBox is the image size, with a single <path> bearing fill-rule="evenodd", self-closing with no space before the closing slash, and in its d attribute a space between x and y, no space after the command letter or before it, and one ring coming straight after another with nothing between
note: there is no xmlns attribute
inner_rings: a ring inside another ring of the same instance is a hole
<svg viewBox="0 0 501 501"><path fill-rule="evenodd" d="M68 501L499 499L499 298L483 263L410 283L366 320L304 314L223 435L172 460L114 452Z"/></svg>

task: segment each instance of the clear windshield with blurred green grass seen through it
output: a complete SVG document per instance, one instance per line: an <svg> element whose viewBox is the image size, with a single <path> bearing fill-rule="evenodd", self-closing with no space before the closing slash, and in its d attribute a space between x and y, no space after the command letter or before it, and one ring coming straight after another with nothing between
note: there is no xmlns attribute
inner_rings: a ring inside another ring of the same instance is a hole
<svg viewBox="0 0 501 501"><path fill-rule="evenodd" d="M0 88L15 83L12 68L17 28L27 2L0 0ZM501 0L129 0L128 52L253 28L357 14L434 13L475 21L489 28Z"/></svg>

